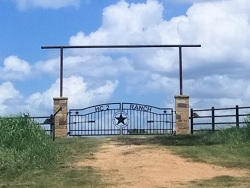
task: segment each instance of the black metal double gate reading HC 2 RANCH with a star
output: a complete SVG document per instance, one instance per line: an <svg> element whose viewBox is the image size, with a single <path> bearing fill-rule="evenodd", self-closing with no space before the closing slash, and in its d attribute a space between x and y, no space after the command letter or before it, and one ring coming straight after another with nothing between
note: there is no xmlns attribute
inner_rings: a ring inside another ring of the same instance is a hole
<svg viewBox="0 0 250 188"><path fill-rule="evenodd" d="M173 109L107 103L69 110L69 136L172 134Z"/></svg>

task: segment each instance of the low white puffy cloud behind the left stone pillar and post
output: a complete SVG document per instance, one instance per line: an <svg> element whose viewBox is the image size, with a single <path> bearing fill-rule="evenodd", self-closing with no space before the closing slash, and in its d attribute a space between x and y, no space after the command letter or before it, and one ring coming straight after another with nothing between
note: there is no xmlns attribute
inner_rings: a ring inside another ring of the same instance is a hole
<svg viewBox="0 0 250 188"><path fill-rule="evenodd" d="M59 82L57 79L50 88L44 92L32 94L26 101L34 109L52 109L53 98L59 95ZM110 99L118 81L106 81L98 87L91 88L81 76L64 78L64 96L69 98L69 108L82 108Z"/></svg>

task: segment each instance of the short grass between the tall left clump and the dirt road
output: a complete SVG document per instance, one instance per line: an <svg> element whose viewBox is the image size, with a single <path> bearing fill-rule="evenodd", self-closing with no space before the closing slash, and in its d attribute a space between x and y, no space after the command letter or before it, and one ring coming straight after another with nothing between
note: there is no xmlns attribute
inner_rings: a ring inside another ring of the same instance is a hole
<svg viewBox="0 0 250 188"><path fill-rule="evenodd" d="M85 159L95 159L103 140L96 138L56 139L54 146L59 148L59 159L51 168L29 168L15 176L1 177L2 187L105 187L101 172L92 167L77 167L74 163Z"/></svg>

